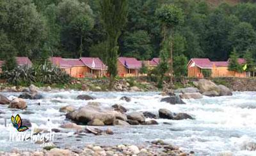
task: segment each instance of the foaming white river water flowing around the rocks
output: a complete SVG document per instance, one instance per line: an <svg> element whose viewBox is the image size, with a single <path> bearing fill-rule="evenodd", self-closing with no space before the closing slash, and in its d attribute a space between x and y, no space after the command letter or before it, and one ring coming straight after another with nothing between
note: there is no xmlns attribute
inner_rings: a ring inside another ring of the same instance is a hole
<svg viewBox="0 0 256 156"><path fill-rule="evenodd" d="M19 93L2 93L9 99L19 96ZM218 155L233 153L234 155L256 155L256 151L248 151L244 146L256 143L256 92L234 92L230 97L204 97L199 100L188 100L187 104L171 105L161 103L163 98L157 92L42 92L44 99L27 100L28 109L33 114L23 114L24 111L10 110L7 106L0 106L0 151L12 148L38 148L30 142L10 143L9 133L4 127L3 118L10 122L11 115L20 114L28 118L33 125L41 128L51 127L60 129L65 120L65 114L60 113L62 106L73 105L76 108L89 101L77 100L79 94L89 94L97 97L93 100L100 102L103 107L122 104L129 111L151 111L157 113L160 108L172 112L188 113L196 120L164 120L158 119L159 125L140 125L131 127L111 127L113 136L77 136L74 132L61 129L56 134L54 143L60 147L83 147L88 143L100 145L118 145L133 143L141 145L146 141L163 139L168 143L180 146L186 152L194 151L198 155ZM120 97L132 97L127 103L120 101ZM40 103L38 106L36 103ZM49 120L49 121L48 121ZM163 124L168 122L171 125ZM106 127L102 127L106 129Z"/></svg>

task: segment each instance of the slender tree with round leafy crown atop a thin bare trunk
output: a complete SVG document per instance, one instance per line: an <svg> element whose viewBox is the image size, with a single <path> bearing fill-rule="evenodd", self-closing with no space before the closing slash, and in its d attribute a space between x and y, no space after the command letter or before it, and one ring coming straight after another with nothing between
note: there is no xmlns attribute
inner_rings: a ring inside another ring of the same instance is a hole
<svg viewBox="0 0 256 156"><path fill-rule="evenodd" d="M163 24L163 41L168 41L168 46L170 47L170 76L172 83L173 76L173 34L174 29L178 25L184 22L184 15L182 10L173 4L164 4L157 10L157 17ZM166 44L164 44L166 45ZM165 48L166 49L166 48ZM163 50L164 52L165 50Z"/></svg>

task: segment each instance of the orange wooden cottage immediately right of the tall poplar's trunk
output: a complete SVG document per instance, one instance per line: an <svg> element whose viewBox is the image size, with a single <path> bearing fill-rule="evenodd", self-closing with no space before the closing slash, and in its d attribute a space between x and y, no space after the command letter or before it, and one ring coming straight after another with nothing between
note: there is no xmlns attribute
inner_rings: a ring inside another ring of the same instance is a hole
<svg viewBox="0 0 256 156"><path fill-rule="evenodd" d="M119 57L117 61L118 76L139 76L141 61L134 57Z"/></svg>

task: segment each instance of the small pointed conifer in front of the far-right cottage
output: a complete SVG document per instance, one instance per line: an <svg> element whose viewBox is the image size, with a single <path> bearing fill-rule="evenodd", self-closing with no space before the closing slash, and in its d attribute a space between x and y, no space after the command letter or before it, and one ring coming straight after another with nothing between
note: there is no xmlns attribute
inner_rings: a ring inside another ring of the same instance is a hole
<svg viewBox="0 0 256 156"><path fill-rule="evenodd" d="M236 71L239 73L243 72L243 67L238 63L238 55L236 52L236 49L234 49L234 51L231 53L230 55L230 60L228 62L228 70L229 71Z"/></svg>

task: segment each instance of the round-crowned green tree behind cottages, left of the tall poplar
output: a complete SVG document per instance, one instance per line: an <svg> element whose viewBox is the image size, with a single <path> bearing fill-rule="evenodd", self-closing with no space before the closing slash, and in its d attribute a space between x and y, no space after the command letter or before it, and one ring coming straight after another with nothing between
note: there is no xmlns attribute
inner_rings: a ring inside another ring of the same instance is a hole
<svg viewBox="0 0 256 156"><path fill-rule="evenodd" d="M63 0L58 4L58 24L61 25L61 46L66 57L88 55L87 46L92 39L89 31L94 25L93 11L86 3L78 0Z"/></svg>

